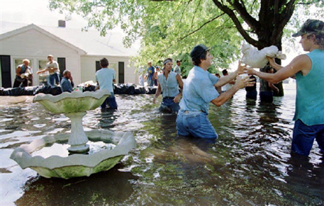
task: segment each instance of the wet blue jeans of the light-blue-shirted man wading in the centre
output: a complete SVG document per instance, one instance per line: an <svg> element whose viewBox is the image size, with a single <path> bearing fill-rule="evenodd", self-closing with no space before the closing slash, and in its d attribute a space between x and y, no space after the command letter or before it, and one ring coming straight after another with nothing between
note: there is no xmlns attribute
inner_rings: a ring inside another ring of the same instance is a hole
<svg viewBox="0 0 324 206"><path fill-rule="evenodd" d="M207 118L207 114L202 111L179 110L176 122L178 135L218 138L217 132Z"/></svg>

